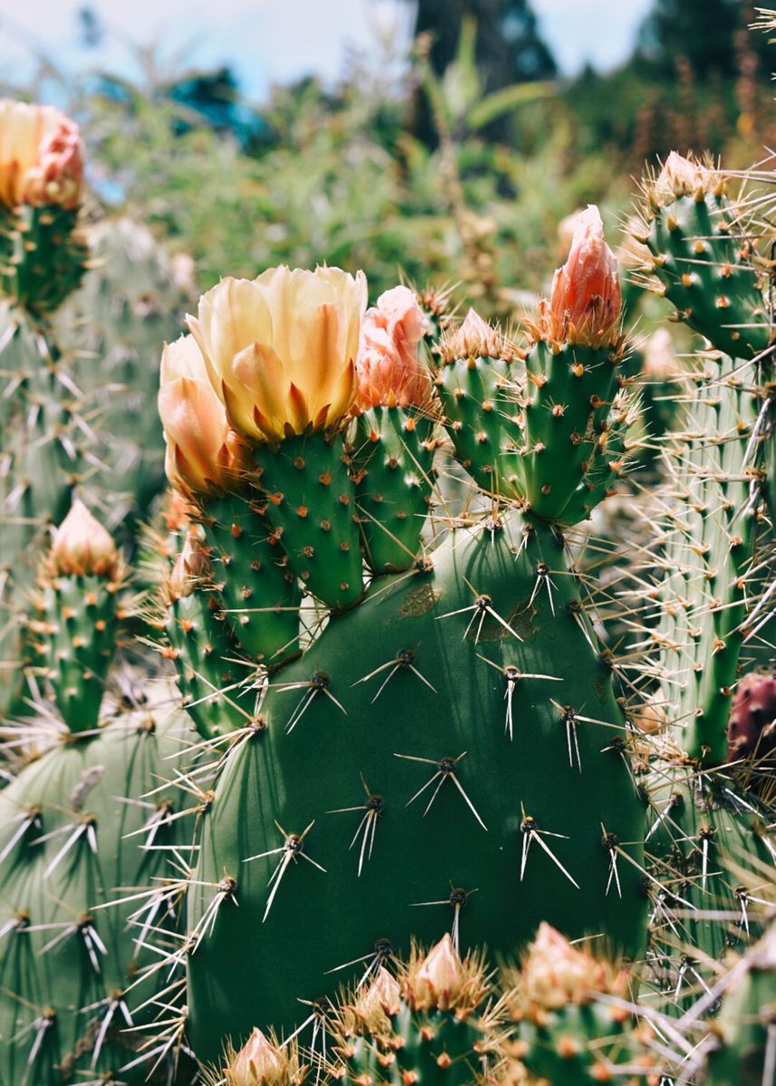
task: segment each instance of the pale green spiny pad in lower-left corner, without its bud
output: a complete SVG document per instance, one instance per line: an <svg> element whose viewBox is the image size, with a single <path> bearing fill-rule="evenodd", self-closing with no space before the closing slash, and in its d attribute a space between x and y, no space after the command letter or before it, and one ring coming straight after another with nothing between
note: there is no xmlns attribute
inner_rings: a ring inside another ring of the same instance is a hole
<svg viewBox="0 0 776 1086"><path fill-rule="evenodd" d="M147 1081L146 1038L122 1031L127 1018L136 1025L152 1019L152 1008L137 1009L166 975L128 990L157 961L134 942L143 924L168 926L160 876L172 869L162 846L185 844L193 829L193 818L172 820L185 805L160 788L187 729L179 712L167 721L158 709L120 716L99 734L49 750L0 794L4 1083L110 1082L109 1072L130 1086Z"/></svg>

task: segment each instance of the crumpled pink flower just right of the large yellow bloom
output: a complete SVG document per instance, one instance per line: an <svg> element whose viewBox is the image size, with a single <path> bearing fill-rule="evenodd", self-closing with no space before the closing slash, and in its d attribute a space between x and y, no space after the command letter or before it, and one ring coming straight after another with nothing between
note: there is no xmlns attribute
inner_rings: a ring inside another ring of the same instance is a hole
<svg viewBox="0 0 776 1086"><path fill-rule="evenodd" d="M387 290L377 305L366 311L355 363L358 408L428 406L431 378L417 356L417 344L427 328L423 310L408 287Z"/></svg>

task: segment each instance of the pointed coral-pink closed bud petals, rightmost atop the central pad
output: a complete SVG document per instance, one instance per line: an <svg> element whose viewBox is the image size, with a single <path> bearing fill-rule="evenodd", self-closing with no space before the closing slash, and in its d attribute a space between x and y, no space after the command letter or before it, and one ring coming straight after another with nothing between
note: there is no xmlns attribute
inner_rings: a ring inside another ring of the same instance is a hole
<svg viewBox="0 0 776 1086"><path fill-rule="evenodd" d="M568 260L555 272L550 301L539 305L543 338L581 345L613 345L622 310L617 262L592 204L577 216Z"/></svg>

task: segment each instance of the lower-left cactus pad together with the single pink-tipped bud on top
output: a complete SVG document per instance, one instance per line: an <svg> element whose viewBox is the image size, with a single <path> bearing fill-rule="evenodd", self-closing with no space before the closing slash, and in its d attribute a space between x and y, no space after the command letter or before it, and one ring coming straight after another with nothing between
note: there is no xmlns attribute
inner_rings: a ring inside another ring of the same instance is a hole
<svg viewBox="0 0 776 1086"><path fill-rule="evenodd" d="M135 693L137 678L128 709L103 698L121 568L83 505L42 576L36 636L52 702L43 684L39 719L13 740L26 765L0 795L0 1075L26 1086L85 1073L139 1084L159 1056L149 1059L135 1032L162 987L147 933L174 923L182 891L163 877L166 855L190 839L186 808L164 783L186 718L164 710L164 685L150 698ZM159 1064L170 1081L164 1057Z"/></svg>

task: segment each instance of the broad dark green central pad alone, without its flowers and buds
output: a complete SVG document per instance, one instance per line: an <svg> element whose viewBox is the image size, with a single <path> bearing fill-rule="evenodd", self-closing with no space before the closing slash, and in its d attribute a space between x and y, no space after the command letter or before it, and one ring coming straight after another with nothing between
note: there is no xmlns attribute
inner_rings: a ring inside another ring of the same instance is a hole
<svg viewBox="0 0 776 1086"><path fill-rule="evenodd" d="M512 514L376 578L272 678L203 823L198 879L234 879L239 908L189 960L200 1058L459 914L462 947L513 952L549 920L639 952L643 801L578 591L560 536Z"/></svg>

